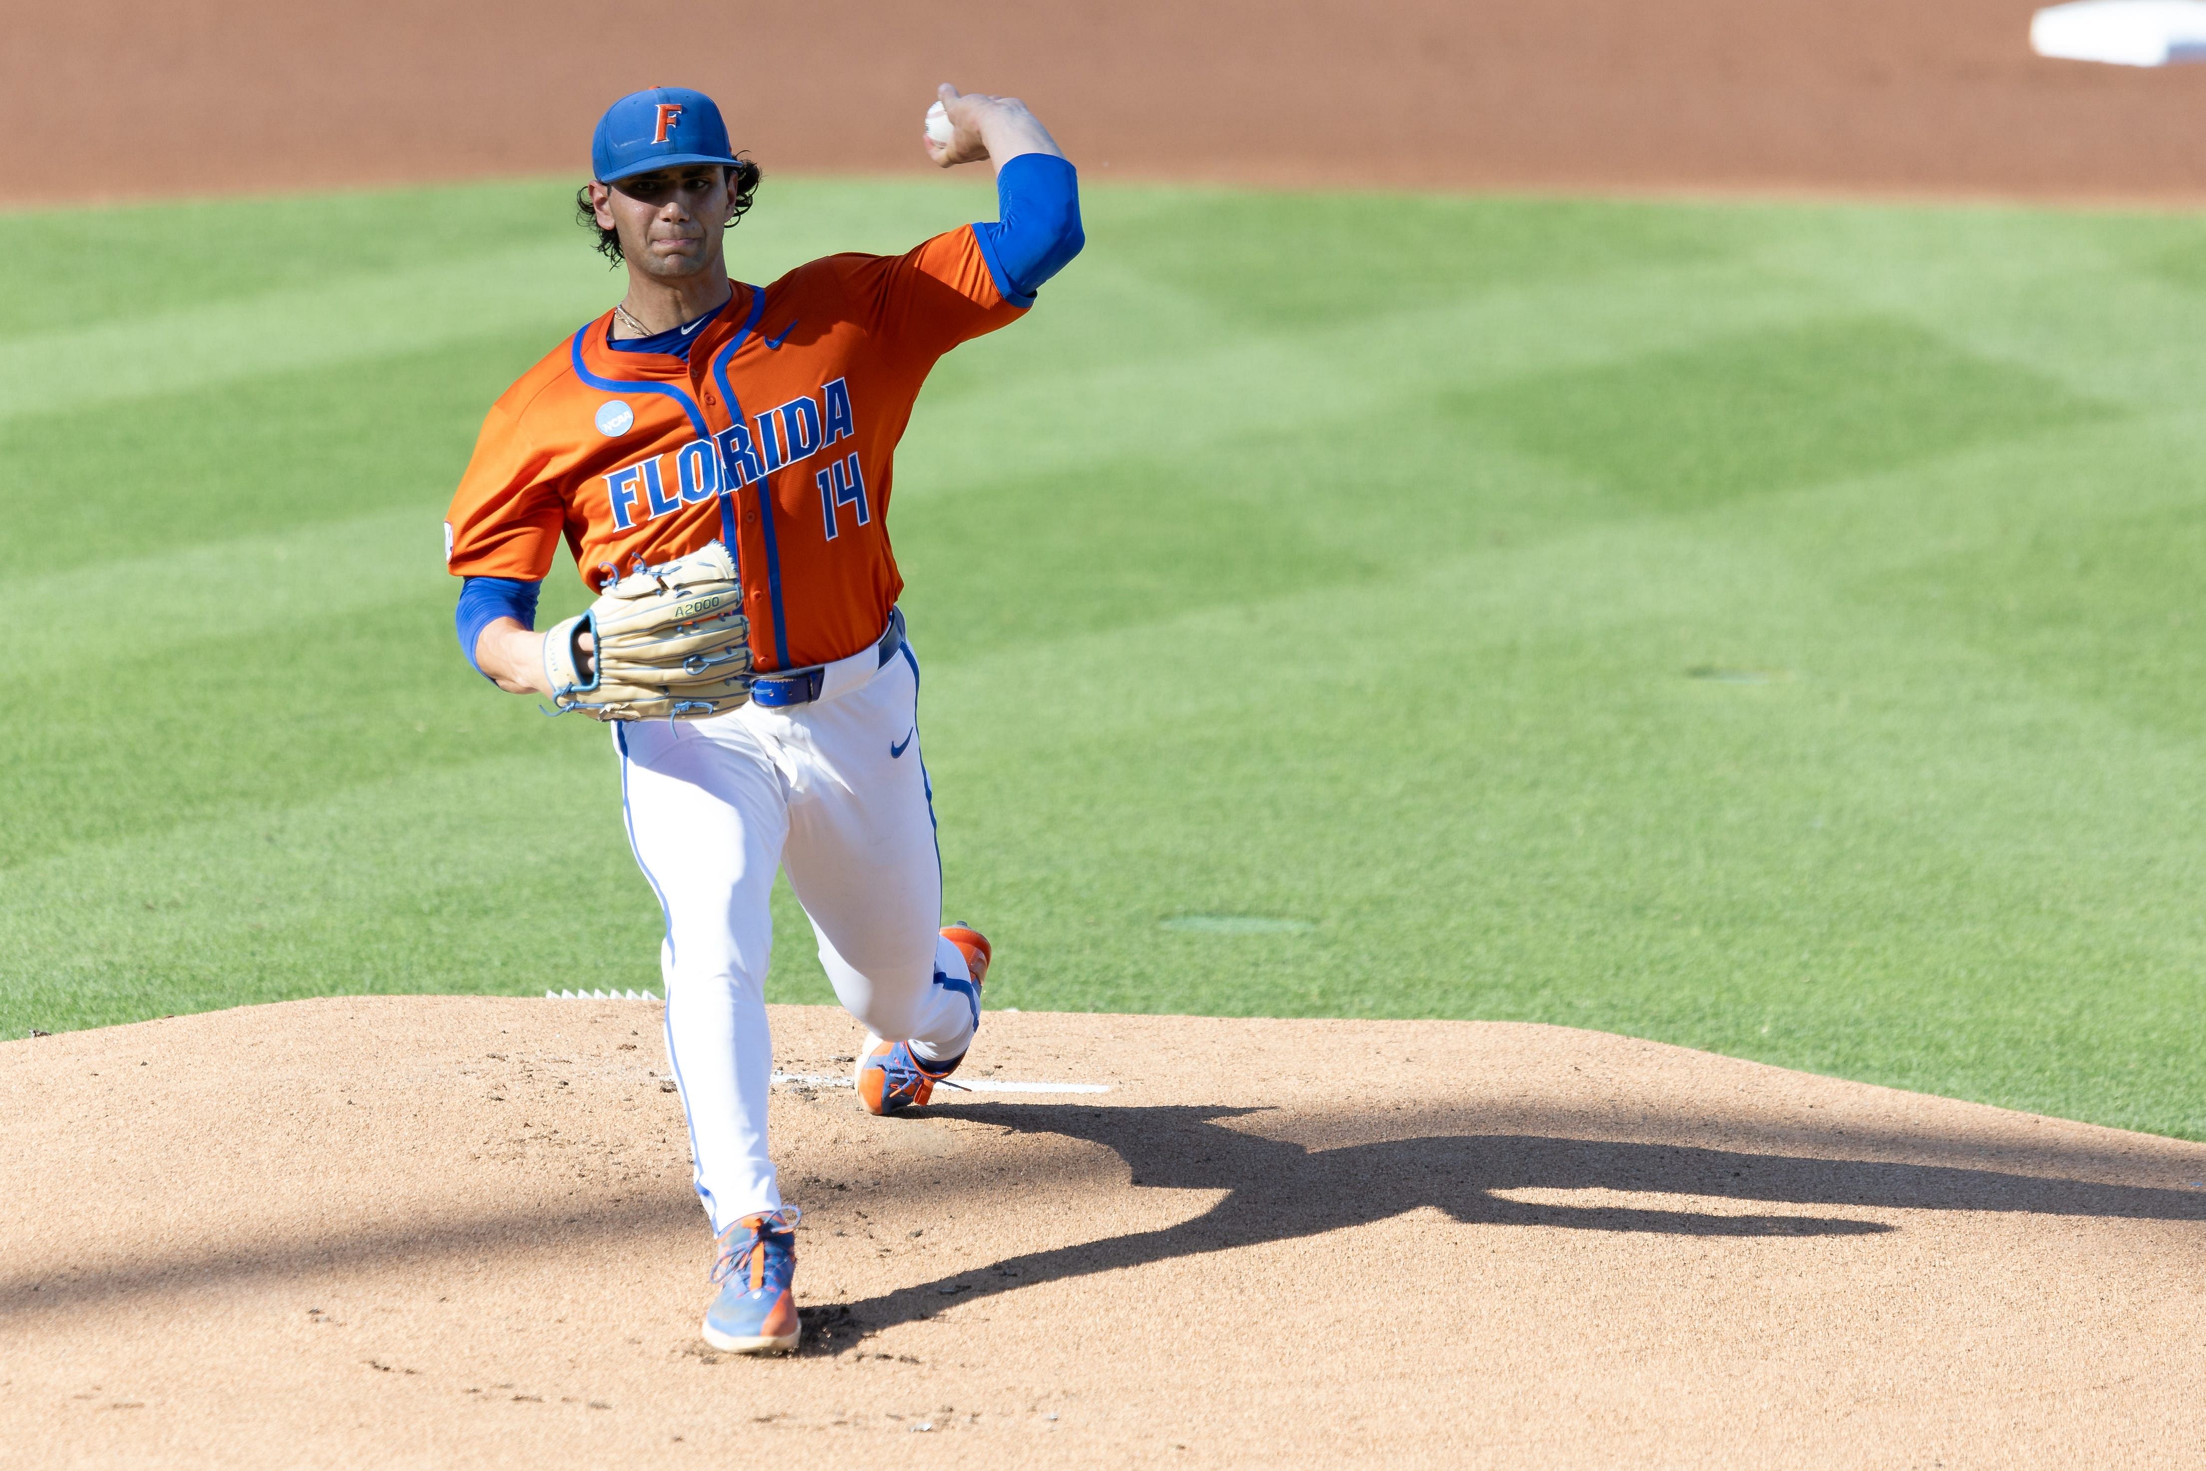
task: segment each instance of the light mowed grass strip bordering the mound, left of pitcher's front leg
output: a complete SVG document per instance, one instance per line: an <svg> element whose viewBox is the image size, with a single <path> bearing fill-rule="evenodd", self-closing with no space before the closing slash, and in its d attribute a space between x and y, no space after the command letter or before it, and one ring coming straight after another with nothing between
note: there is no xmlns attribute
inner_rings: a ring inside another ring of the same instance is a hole
<svg viewBox="0 0 2206 1471"><path fill-rule="evenodd" d="M152 840L0 873L0 939L11 957L46 959L7 966L11 1006L163 1014L298 995L585 984L574 977L604 948L609 922L646 957L657 933L657 915L604 902L633 873L609 842L618 825L602 827L596 792L609 776L602 732L563 732L521 756L382 772L291 805L240 803ZM543 785L589 790L582 820L552 834L532 803L483 801ZM501 911L529 889L569 902L516 935ZM622 959L622 981L642 984L633 957Z"/></svg>

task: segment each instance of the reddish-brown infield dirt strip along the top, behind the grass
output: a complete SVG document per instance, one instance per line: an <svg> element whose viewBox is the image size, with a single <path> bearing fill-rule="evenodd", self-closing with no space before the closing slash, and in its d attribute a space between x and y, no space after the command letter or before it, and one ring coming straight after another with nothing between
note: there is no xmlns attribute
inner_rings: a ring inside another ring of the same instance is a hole
<svg viewBox="0 0 2206 1471"><path fill-rule="evenodd" d="M1090 179L2206 198L2206 68L2030 55L2036 0L75 0L15 7L0 198L580 176L638 86L770 170L918 170L938 82Z"/></svg>

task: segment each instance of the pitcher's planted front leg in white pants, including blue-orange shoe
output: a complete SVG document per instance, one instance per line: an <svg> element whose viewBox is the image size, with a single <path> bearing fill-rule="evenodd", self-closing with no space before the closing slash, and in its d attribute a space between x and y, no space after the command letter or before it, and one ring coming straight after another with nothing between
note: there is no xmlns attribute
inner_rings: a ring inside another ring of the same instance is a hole
<svg viewBox="0 0 2206 1471"><path fill-rule="evenodd" d="M688 1116L697 1198L721 1239L721 1266L743 1257L737 1273L743 1281L730 1286L741 1286L735 1297L746 1301L728 1312L724 1303L713 1310L759 1319L719 1323L715 1343L794 1347L796 1310L781 1261L788 1237L772 1226L783 1202L765 1149L774 1072L765 1026L768 902L788 838L781 774L757 734L735 717L638 721L613 732L622 752L629 840L666 911L660 951L666 1052ZM754 1275L779 1286L752 1288Z"/></svg>

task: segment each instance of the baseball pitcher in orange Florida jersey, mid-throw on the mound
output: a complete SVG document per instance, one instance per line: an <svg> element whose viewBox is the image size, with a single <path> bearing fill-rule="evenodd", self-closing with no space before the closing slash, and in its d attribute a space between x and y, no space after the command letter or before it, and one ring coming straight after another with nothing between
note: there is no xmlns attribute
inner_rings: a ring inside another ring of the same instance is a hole
<svg viewBox="0 0 2206 1471"><path fill-rule="evenodd" d="M889 551L896 443L935 359L1079 254L1072 165L1024 104L944 86L927 154L993 159L997 221L732 282L759 168L704 93L615 101L578 207L627 296L483 421L443 527L459 644L501 690L611 723L666 915L666 1050L717 1242L708 1343L796 1347L796 1206L765 1142L777 869L871 1037L858 1098L927 1103L979 1028L988 942L942 926L920 662ZM565 538L596 604L536 631Z"/></svg>

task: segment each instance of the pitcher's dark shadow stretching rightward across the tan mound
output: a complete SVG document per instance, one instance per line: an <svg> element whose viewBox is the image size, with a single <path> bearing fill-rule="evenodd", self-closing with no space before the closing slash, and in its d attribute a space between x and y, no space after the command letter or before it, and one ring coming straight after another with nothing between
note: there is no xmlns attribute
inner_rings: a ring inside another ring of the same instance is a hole
<svg viewBox="0 0 2206 1471"><path fill-rule="evenodd" d="M1710 1202L1908 1211L2034 1211L2133 1220L2206 1220L2206 1193L2045 1180L1985 1169L1884 1164L1681 1145L1447 1134L1304 1149L1220 1120L1264 1109L975 1103L957 1118L1017 1134L1063 1134L1112 1149L1134 1184L1227 1191L1202 1215L1132 1235L1006 1257L993 1266L852 1303L805 1308L805 1352L840 1354L867 1334L953 1303L1171 1257L1319 1235L1434 1206L1458 1222L1696 1237L1882 1235L1846 1215L1663 1211L1628 1204L1533 1204L1500 1191L1619 1191Z"/></svg>

